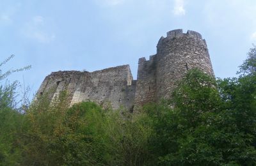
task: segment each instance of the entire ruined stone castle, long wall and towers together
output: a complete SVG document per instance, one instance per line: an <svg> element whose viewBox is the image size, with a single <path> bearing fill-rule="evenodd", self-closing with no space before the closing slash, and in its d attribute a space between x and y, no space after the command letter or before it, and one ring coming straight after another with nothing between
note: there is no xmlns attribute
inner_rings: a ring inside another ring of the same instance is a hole
<svg viewBox="0 0 256 166"><path fill-rule="evenodd" d="M129 65L95 72L52 72L45 77L38 95L49 92L54 98L67 89L70 105L82 101L97 102L104 107L133 110L148 102L170 98L177 81L191 68L214 76L205 40L200 33L182 29L169 31L157 43L157 53L139 59L137 80Z"/></svg>

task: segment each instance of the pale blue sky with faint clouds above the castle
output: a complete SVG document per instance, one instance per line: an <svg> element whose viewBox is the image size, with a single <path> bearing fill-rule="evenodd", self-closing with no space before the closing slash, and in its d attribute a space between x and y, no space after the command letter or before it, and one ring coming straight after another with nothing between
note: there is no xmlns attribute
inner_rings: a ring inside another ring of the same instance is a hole
<svg viewBox="0 0 256 166"><path fill-rule="evenodd" d="M93 72L156 54L173 29L205 38L216 77L236 77L256 43L255 0L0 0L1 70L31 65L8 79L31 96L51 72ZM3 83L3 82L2 82Z"/></svg>

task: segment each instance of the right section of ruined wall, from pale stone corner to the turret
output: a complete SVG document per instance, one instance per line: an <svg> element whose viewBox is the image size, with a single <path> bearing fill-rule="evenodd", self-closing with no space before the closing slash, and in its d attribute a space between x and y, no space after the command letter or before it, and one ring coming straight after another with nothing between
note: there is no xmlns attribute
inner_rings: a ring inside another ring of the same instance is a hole
<svg viewBox="0 0 256 166"><path fill-rule="evenodd" d="M129 65L92 72L81 76L70 105L91 100L113 109L128 107L134 101L133 86ZM127 89L131 89L129 93Z"/></svg>

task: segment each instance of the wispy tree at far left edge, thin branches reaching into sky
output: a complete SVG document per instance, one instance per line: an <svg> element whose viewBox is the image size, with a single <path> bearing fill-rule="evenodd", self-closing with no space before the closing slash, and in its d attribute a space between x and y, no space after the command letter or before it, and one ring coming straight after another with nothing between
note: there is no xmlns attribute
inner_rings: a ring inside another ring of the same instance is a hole
<svg viewBox="0 0 256 166"><path fill-rule="evenodd" d="M14 56L0 63L0 165L17 165L20 161L19 140L17 131L23 115L16 108L18 82L9 83L6 79L14 72L28 70L30 66L3 72L1 68Z"/></svg>

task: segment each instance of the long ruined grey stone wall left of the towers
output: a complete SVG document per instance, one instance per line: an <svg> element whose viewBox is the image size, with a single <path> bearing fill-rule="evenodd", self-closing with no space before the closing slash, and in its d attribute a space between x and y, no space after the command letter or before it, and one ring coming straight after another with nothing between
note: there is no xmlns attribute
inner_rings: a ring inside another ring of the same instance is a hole
<svg viewBox="0 0 256 166"><path fill-rule="evenodd" d="M97 102L104 107L130 109L134 105L136 81L132 81L129 65L95 72L53 72L48 75L38 93L49 92L54 98L64 89L70 93L70 105L82 101Z"/></svg>

